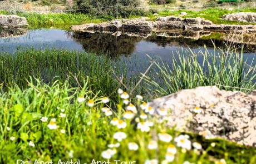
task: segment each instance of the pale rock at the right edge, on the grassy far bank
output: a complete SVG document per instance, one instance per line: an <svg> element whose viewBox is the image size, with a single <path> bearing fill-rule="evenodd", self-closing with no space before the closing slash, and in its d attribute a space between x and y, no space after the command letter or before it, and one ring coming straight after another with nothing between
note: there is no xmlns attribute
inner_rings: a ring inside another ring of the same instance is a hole
<svg viewBox="0 0 256 164"><path fill-rule="evenodd" d="M223 19L228 21L256 23L256 13L243 12L243 13L227 14L223 16Z"/></svg>

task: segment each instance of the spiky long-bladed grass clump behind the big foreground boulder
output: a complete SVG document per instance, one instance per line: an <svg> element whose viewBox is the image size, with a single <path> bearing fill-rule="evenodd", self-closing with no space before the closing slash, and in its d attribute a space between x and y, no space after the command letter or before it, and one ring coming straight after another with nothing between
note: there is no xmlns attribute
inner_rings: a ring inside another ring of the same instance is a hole
<svg viewBox="0 0 256 164"><path fill-rule="evenodd" d="M156 77L147 76L147 84L154 88L155 95L169 95L198 86L217 86L223 90L243 92L256 88L256 66L254 61L243 57L243 48L241 52L230 49L229 53L225 48L216 47L212 53L206 47L199 53L183 49L177 53L177 57L170 58L171 63L156 62Z"/></svg>

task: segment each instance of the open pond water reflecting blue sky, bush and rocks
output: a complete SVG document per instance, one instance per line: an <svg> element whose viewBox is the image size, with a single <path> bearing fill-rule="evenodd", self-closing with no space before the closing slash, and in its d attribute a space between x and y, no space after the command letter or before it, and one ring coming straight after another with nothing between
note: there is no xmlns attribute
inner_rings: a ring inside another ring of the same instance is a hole
<svg viewBox="0 0 256 164"><path fill-rule="evenodd" d="M234 36L233 41L239 42L242 36ZM244 57L251 63L256 52L256 35L243 36ZM110 33L72 32L63 29L6 29L0 32L0 51L14 53L18 48L35 47L75 49L109 56L112 61L129 61L129 74L144 72L149 66L149 54L156 59L170 62L171 56L177 56L181 49L194 52L214 51L213 43L218 47L230 44L230 36L220 33L152 33L150 36L128 36ZM235 47L242 44L235 43ZM189 48L188 48L189 47ZM233 47L233 44L232 44ZM199 58L202 58L199 56ZM86 61L85 61L86 62ZM255 65L255 62L253 63ZM47 76L47 75L45 75Z"/></svg>

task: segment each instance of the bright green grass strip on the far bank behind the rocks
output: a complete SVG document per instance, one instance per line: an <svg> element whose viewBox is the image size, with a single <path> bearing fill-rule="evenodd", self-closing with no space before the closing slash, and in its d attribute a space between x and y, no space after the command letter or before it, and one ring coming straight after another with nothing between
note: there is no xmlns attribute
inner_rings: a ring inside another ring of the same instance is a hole
<svg viewBox="0 0 256 164"><path fill-rule="evenodd" d="M179 16L181 12L187 12L186 17L203 17L209 19L216 24L238 24L237 21L225 21L222 18L224 14L238 12L238 9L233 11L228 11L227 9L220 8L207 8L201 11L191 11L191 10L180 10L180 11L170 11L168 9L164 11L159 11L160 16ZM255 8L244 8L240 9L239 12L256 12ZM0 11L0 14L11 14L8 11ZM83 24L83 23L101 23L115 19L115 16L92 16L91 14L82 14L82 13L35 13L35 12L18 12L18 16L26 17L30 28L38 27L58 27L58 28L69 28L72 25ZM156 16L153 16L149 12L145 12L145 15L150 17L152 20L155 20ZM139 18L136 14L131 14L126 18ZM121 18L121 17L120 17ZM252 24L240 22L240 24ZM255 23L254 23L255 24Z"/></svg>

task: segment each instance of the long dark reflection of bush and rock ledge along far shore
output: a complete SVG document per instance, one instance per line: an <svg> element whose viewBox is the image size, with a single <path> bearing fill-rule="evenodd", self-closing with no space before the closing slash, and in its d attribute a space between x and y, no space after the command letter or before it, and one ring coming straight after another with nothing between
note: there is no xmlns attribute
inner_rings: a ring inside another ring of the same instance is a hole
<svg viewBox="0 0 256 164"><path fill-rule="evenodd" d="M168 33L167 33L168 34ZM175 33L171 33L172 35ZM178 35L179 33L177 33ZM110 57L115 58L119 54L130 55L135 51L136 43L145 40L148 42L156 43L159 47L175 46L175 47L190 47L197 48L198 46L213 47L215 46L224 48L226 44L230 44L228 39L225 39L220 33L213 33L210 36L202 37L199 39L181 37L162 37L159 34L153 33L152 36L147 38L127 36L114 36L110 33L88 33L88 32L67 32L68 36L80 43L85 51L96 54L108 54ZM170 35L170 33L169 33ZM225 41L223 40L225 39ZM232 47L240 48L241 43L232 43ZM244 51L255 51L255 45L245 44Z"/></svg>

